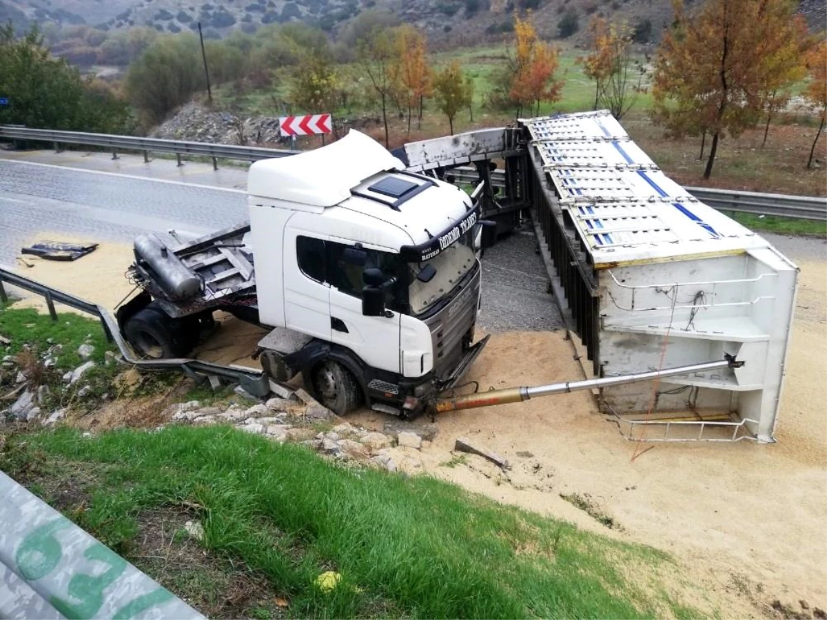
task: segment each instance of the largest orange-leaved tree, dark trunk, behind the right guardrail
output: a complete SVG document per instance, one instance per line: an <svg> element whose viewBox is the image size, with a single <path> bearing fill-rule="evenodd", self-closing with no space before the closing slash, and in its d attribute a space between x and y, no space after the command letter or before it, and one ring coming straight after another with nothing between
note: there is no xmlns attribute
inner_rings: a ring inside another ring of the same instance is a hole
<svg viewBox="0 0 827 620"><path fill-rule="evenodd" d="M755 126L772 84L772 61L798 35L795 0L706 0L675 21L655 61L653 117L667 135L712 136L709 179L721 137Z"/></svg>

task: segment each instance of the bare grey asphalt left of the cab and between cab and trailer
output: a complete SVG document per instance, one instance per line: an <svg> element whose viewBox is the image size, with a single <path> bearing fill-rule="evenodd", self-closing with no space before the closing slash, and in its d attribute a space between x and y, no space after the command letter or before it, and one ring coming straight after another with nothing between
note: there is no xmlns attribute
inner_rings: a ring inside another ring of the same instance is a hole
<svg viewBox="0 0 827 620"><path fill-rule="evenodd" d="M13 267L20 248L44 232L129 242L146 231L207 233L244 220L245 195L237 189L0 160L0 265ZM526 229L486 252L486 331L562 327L536 248Z"/></svg>

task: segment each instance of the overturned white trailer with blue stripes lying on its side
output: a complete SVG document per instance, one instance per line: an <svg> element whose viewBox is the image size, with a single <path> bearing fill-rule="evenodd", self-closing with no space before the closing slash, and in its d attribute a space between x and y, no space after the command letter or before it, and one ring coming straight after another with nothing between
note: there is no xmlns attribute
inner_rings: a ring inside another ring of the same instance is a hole
<svg viewBox="0 0 827 620"><path fill-rule="evenodd" d="M726 355L743 362L654 385L604 384L600 406L629 438L773 441L796 265L667 178L609 112L523 119L499 138L484 130L405 149L418 169L467 176L458 167L475 165L500 186L490 213L529 206L596 377ZM489 161L504 170L492 173Z"/></svg>

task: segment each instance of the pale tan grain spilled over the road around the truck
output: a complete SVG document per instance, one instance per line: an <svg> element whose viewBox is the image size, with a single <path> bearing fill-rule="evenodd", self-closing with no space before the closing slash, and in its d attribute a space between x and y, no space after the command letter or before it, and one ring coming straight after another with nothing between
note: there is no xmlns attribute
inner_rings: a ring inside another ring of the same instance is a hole
<svg viewBox="0 0 827 620"><path fill-rule="evenodd" d="M130 255L128 246L104 244L77 263L30 260L35 266L22 270L111 307L131 288L122 278ZM677 598L725 609L727 618L777 618L767 607L772 599L825 608L827 426L819 404L825 299L827 265L801 264L777 444L655 444L633 460L640 446L580 392L445 414L423 451L423 468L491 498L669 551L683 575ZM245 363L259 337L261 331L231 320L199 355ZM492 337L469 379L489 389L581 376L562 332L504 332ZM381 430L387 418L363 411L348 421ZM512 469L458 457L457 436L506 456ZM582 501L572 502L575 496ZM595 515L609 517L613 527Z"/></svg>

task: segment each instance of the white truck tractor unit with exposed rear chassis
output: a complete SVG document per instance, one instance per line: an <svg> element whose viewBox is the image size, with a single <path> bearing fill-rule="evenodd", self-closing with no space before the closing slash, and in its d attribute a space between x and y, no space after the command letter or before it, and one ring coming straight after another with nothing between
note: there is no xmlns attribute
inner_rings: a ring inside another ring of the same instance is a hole
<svg viewBox="0 0 827 620"><path fill-rule="evenodd" d="M172 251L136 240L133 275L179 329L196 312L203 318L205 303L210 314L272 327L259 343L265 371L280 380L301 372L340 414L363 402L416 414L457 383L485 346L472 346L481 224L471 197L404 171L357 131L254 163L247 193L249 227ZM227 265L246 259L251 273L218 266L221 254ZM184 286L192 274L204 283L194 294ZM140 336L130 338L138 349Z"/></svg>

